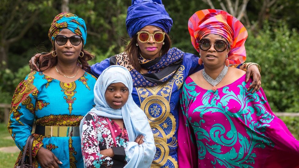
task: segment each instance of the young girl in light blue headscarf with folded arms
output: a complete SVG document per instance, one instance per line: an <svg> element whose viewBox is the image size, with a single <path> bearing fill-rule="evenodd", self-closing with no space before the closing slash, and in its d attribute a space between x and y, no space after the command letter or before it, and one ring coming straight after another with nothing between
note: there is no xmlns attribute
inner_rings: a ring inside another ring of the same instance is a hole
<svg viewBox="0 0 299 168"><path fill-rule="evenodd" d="M80 124L87 167L149 167L156 152L145 113L132 99L132 77L123 66L103 71L94 87L93 109Z"/></svg>

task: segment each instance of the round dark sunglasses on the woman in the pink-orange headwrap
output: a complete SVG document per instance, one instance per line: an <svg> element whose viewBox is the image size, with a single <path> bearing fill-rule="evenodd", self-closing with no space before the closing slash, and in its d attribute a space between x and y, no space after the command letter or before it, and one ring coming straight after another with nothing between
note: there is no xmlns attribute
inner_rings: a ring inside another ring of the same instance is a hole
<svg viewBox="0 0 299 168"><path fill-rule="evenodd" d="M209 50L212 45L214 46L215 50L218 52L222 52L228 48L228 44L223 40L217 40L215 41L214 44L212 44L211 41L208 39L201 39L198 43L199 43L199 48L204 51Z"/></svg>

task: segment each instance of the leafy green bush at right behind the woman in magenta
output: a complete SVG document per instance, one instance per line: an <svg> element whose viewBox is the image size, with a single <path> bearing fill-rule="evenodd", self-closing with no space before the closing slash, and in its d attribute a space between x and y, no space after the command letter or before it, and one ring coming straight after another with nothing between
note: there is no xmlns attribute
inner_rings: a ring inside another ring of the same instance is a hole
<svg viewBox="0 0 299 168"><path fill-rule="evenodd" d="M273 111L299 112L299 35L286 23L265 24L257 36L249 32L248 59L262 68L262 86Z"/></svg>

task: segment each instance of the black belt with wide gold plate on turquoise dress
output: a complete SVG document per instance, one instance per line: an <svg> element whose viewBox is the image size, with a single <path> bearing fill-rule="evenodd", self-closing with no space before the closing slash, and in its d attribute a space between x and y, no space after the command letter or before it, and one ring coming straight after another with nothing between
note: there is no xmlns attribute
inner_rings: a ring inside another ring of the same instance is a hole
<svg viewBox="0 0 299 168"><path fill-rule="evenodd" d="M44 136L68 137L80 136L79 127L72 126L41 126L36 125L35 133Z"/></svg>

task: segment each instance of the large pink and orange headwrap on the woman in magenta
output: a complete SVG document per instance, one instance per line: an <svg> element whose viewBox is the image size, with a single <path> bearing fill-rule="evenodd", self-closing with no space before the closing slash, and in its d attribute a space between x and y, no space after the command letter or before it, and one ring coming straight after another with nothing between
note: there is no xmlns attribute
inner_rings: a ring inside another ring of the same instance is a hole
<svg viewBox="0 0 299 168"><path fill-rule="evenodd" d="M248 33L244 25L229 13L218 9L204 9L194 13L188 22L193 47L199 52L198 41L208 34L218 34L230 44L229 64L246 60L245 40Z"/></svg>

